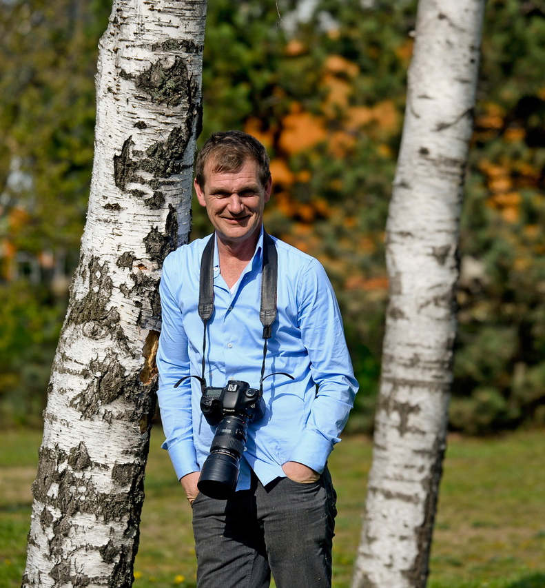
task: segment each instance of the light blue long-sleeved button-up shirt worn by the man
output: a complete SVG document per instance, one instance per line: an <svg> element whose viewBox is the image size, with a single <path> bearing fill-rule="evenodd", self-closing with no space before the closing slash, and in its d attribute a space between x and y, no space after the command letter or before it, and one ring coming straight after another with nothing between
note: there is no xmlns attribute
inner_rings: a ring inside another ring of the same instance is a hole
<svg viewBox="0 0 545 588"><path fill-rule="evenodd" d="M158 400L167 449L178 479L201 469L214 429L200 412L203 322L198 316L200 257L209 237L182 245L165 259L161 278ZM266 485L297 461L322 472L347 422L358 383L329 279L313 257L273 237L278 253L277 318L268 341L263 382L265 416L249 423L237 490L249 488L250 468ZM259 387L263 325L259 319L263 229L253 258L232 290L214 249L214 314L207 325L207 385L243 380ZM318 391L316 388L318 387Z"/></svg>

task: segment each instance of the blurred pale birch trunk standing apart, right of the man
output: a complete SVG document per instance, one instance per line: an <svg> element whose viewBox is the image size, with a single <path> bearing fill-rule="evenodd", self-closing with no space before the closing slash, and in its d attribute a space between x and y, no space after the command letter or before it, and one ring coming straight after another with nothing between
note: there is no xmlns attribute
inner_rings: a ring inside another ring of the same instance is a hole
<svg viewBox="0 0 545 588"><path fill-rule="evenodd" d="M484 0L420 0L387 221L390 300L353 587L424 587L446 441Z"/></svg>

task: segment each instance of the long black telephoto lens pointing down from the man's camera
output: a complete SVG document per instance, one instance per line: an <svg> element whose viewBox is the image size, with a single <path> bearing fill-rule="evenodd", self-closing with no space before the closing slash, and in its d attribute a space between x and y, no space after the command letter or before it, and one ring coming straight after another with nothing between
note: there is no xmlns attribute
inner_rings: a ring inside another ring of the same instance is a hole
<svg viewBox="0 0 545 588"><path fill-rule="evenodd" d="M236 489L240 457L246 446L247 419L225 416L216 429L210 455L203 464L197 487L210 498L226 500Z"/></svg>

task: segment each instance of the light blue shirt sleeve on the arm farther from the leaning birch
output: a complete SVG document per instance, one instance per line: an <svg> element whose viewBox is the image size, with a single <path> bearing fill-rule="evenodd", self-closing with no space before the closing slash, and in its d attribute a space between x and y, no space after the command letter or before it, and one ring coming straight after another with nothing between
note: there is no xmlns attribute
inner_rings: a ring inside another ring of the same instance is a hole
<svg viewBox="0 0 545 588"><path fill-rule="evenodd" d="M318 390L306 428L290 460L321 473L333 445L340 441L358 382L354 378L333 287L316 259L300 273L297 296L298 326Z"/></svg>

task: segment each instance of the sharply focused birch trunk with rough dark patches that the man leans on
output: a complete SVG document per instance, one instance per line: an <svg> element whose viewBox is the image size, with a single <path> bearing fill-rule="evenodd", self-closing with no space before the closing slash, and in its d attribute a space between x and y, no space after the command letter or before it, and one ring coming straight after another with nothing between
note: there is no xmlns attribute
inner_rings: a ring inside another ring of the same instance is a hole
<svg viewBox="0 0 545 588"><path fill-rule="evenodd" d="M130 587L165 256L187 240L205 0L115 0L87 223L56 350L23 587Z"/></svg>

